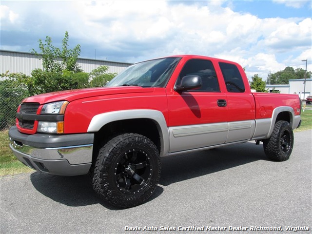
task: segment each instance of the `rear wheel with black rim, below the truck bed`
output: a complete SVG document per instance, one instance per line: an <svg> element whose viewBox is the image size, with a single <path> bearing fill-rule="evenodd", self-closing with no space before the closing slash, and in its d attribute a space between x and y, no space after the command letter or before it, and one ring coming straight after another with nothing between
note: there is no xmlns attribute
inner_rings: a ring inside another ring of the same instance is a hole
<svg viewBox="0 0 312 234"><path fill-rule="evenodd" d="M263 141L266 156L274 161L286 161L292 154L293 132L287 121L278 121L274 125L272 135Z"/></svg>

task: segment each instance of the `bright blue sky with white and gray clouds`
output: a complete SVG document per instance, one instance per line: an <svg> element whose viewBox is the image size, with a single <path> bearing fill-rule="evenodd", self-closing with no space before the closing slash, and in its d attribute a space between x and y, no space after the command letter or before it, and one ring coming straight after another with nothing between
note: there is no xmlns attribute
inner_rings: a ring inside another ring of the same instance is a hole
<svg viewBox="0 0 312 234"><path fill-rule="evenodd" d="M312 71L311 0L0 0L0 49L52 38L80 58L139 62L192 54L240 63L248 78Z"/></svg>

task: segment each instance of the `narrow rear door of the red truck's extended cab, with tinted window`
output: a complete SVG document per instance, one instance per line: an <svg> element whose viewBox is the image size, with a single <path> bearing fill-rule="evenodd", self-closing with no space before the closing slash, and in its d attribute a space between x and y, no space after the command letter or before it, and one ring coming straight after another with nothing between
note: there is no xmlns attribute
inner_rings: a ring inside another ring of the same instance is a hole
<svg viewBox="0 0 312 234"><path fill-rule="evenodd" d="M254 96L241 66L230 62L218 62L226 86L229 134L226 143L249 140L255 129Z"/></svg>

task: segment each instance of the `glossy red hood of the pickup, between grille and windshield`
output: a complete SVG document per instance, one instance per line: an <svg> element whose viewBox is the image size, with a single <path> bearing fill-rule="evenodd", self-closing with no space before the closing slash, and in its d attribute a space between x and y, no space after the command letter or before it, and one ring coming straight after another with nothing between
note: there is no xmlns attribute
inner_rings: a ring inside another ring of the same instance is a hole
<svg viewBox="0 0 312 234"><path fill-rule="evenodd" d="M53 93L39 94L25 98L23 102L38 102L40 104L54 101L73 101L81 98L90 98L103 95L130 94L130 93L151 93L154 88L142 88L137 86L101 87L88 89L66 90Z"/></svg>

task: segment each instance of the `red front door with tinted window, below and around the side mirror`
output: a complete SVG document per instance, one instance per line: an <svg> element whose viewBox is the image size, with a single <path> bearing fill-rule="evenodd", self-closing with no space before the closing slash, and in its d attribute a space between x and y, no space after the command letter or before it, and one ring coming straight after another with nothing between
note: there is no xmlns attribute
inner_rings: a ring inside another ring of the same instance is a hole
<svg viewBox="0 0 312 234"><path fill-rule="evenodd" d="M181 70L174 74L177 77L175 85L184 76L198 75L202 87L184 92L176 92L173 84L167 88L169 153L225 143L228 136L227 97L220 90L212 61L189 59L181 62Z"/></svg>

